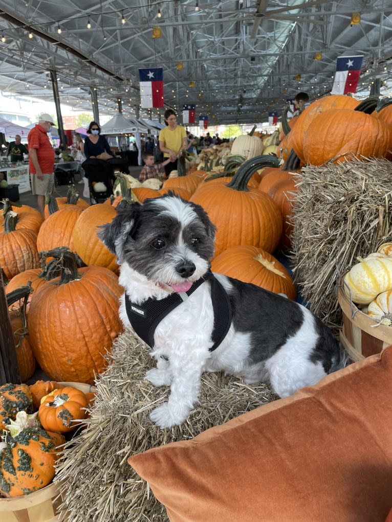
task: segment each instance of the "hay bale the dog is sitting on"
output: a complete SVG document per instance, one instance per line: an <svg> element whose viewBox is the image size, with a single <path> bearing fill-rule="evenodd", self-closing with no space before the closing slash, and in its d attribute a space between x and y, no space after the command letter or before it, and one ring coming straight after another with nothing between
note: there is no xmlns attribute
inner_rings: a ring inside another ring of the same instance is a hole
<svg viewBox="0 0 392 522"><path fill-rule="evenodd" d="M162 430L149 413L169 389L144 379L155 365L148 348L130 329L114 343L109 366L98 376L97 395L85 429L69 443L55 481L67 522L168 520L165 508L126 459L169 442L193 438L239 414L277 399L265 385L210 373L202 376L200 404L180 426Z"/></svg>

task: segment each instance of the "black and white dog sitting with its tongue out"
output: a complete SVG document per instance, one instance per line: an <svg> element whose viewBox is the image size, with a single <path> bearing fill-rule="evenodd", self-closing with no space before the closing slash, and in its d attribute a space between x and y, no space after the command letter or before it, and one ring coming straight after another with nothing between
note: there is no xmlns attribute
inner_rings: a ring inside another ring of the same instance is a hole
<svg viewBox="0 0 392 522"><path fill-rule="evenodd" d="M161 428L187 419L204 371L266 382L286 397L345 365L329 329L304 306L211 274L215 227L199 205L174 194L147 199L98 235L121 265L122 321L157 360L146 378L170 386L151 413Z"/></svg>

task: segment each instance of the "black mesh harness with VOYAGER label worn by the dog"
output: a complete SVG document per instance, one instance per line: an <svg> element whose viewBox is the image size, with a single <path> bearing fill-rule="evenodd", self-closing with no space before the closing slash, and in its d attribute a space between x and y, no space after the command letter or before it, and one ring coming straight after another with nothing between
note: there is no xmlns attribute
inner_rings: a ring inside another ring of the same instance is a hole
<svg viewBox="0 0 392 522"><path fill-rule="evenodd" d="M205 281L211 284L211 300L214 310L214 342L210 351L215 350L225 338L232 324L232 309L229 297L222 284L214 277L211 271L195 281L187 292L171 293L164 299L149 298L142 304L132 303L125 293L125 310L129 322L136 334L151 348L154 348L154 332L162 319L179 304L197 290Z"/></svg>

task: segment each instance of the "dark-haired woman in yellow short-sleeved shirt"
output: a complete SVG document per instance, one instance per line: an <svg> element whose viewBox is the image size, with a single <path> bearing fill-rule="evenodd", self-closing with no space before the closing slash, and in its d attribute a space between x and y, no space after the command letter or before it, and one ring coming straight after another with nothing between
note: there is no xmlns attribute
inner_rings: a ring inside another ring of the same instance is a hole
<svg viewBox="0 0 392 522"><path fill-rule="evenodd" d="M188 139L185 127L177 125L177 115L172 109L165 112L167 127L159 132L159 148L164 153L164 158L171 161L165 165L165 173L168 177L172 170L177 170L177 157L182 148L187 148Z"/></svg>

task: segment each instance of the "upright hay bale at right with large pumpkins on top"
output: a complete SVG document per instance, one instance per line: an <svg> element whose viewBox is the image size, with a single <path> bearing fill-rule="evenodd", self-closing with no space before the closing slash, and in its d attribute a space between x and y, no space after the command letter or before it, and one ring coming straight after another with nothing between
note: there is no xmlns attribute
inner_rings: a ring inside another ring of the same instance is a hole
<svg viewBox="0 0 392 522"><path fill-rule="evenodd" d="M362 158L293 175L294 281L309 309L338 331L337 277L391 234L392 163Z"/></svg>

